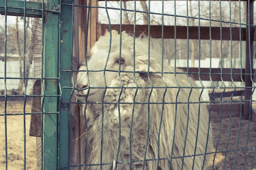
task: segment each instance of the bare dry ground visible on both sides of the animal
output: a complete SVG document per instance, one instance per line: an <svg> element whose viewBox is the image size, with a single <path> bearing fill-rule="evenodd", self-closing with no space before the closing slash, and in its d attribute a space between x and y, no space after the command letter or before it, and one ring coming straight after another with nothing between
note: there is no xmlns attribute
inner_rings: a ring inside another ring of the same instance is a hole
<svg viewBox="0 0 256 170"><path fill-rule="evenodd" d="M5 102L0 100L0 114L4 113ZM24 99L12 99L7 102L7 113L23 113ZM28 98L26 102L26 112L31 112L31 99ZM222 118L221 126L220 119L216 116L217 113L212 113L212 127L214 134L214 146L218 142L217 153L211 154L214 162L215 170L232 170L235 155L235 170L249 170L252 168L253 155L255 153L255 139L256 139L256 122L250 122L250 130L248 132L248 120L239 117ZM26 170L37 169L36 158L36 138L29 136L30 115L26 115ZM230 124L231 123L231 124ZM4 116L0 116L0 170L5 169L5 133L4 133ZM240 135L239 135L240 126ZM220 129L219 129L220 127ZM230 128L229 128L230 127ZM220 130L220 133L219 133ZM230 133L230 135L229 135ZM218 134L219 138L218 138ZM229 138L230 136L230 138ZM248 136L248 141L247 141ZM229 138L229 142L228 142ZM7 151L8 151L8 170L23 170L24 169L24 135L23 135L23 115L7 116ZM236 153L237 142L238 151ZM228 147L227 147L228 144ZM247 145L247 152L245 148ZM250 149L253 148L253 149ZM226 150L228 150L226 156ZM214 150L215 151L215 150ZM215 159L214 159L215 156ZM246 156L246 158L245 158ZM226 157L226 159L225 159ZM245 164L244 164L245 158ZM254 161L254 167L256 167ZM244 168L245 167L245 168ZM211 166L212 169L212 166Z"/></svg>

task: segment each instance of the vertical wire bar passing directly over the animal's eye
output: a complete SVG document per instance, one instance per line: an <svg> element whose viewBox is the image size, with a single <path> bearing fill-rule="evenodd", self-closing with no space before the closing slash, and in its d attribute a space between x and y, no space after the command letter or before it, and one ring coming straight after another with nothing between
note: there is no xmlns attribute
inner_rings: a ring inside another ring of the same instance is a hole
<svg viewBox="0 0 256 170"><path fill-rule="evenodd" d="M122 91L123 91L123 83L122 83L122 79L121 79L121 75L120 75L120 68L121 68L121 54L122 51L122 0L120 0L120 40L119 40L119 68L118 68L118 77L119 77L119 81L121 83L121 90L120 90L120 94L118 97L118 128L119 128L119 140L118 140L118 146L117 146L117 151L116 151L116 162L118 161L118 155L119 155L119 149L120 149L120 144L121 144L121 115L120 115L120 97L122 95ZM116 169L117 169L117 165L116 164Z"/></svg>

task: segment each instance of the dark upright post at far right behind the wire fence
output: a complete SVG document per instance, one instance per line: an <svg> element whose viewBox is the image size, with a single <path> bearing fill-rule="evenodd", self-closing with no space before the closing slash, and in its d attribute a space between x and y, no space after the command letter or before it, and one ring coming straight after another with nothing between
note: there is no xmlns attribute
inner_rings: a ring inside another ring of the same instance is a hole
<svg viewBox="0 0 256 170"><path fill-rule="evenodd" d="M248 3L250 3L250 14L248 13L249 12ZM253 25L253 0L250 0L249 2L246 1L246 9L247 9L246 23ZM250 20L248 20L249 15L250 15ZM249 40L249 37L250 37L250 40ZM250 72L250 63L251 63L251 66L253 67L253 26L250 26L250 31L249 31L249 26L246 26L245 74L252 74ZM250 79L250 75L245 75L245 86L252 87L252 81ZM244 94L244 99L250 100L251 94L252 94L252 89L247 88ZM250 115L250 102L244 102L245 119L249 119L249 115Z"/></svg>

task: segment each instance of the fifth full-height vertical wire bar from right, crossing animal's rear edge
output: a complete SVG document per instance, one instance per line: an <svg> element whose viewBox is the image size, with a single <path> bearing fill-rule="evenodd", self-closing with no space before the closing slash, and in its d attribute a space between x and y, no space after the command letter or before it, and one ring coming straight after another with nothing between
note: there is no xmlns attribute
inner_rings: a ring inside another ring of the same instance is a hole
<svg viewBox="0 0 256 170"><path fill-rule="evenodd" d="M203 161L203 167L202 170L204 170L204 163L207 155L207 146L208 146L208 140L209 140L209 130L210 130L210 122L211 122L211 111L212 111L212 94L215 90L215 85L212 82L212 14L211 14L211 0L209 0L209 41L210 41L210 72L209 72L209 79L212 83L212 93L209 97L209 122L208 122L208 131L207 131L207 141L206 141L206 147L204 152L204 161Z"/></svg>

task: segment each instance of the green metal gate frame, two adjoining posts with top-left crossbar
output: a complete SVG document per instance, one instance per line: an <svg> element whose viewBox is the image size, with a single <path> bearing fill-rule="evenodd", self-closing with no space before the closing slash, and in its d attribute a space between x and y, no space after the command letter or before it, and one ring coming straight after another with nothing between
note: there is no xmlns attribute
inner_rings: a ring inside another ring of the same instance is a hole
<svg viewBox="0 0 256 170"><path fill-rule="evenodd" d="M66 5L63 6L62 2ZM63 87L70 86L73 81L73 5L73 0L42 0L42 2L0 0L2 15L39 17L43 21L42 102L41 113L38 113L41 114L42 170L68 170L70 167L69 119L72 91ZM65 12L61 13L61 11ZM71 75L70 72L61 70L71 70ZM6 169L7 164L6 153Z"/></svg>

